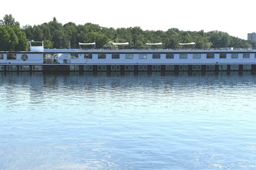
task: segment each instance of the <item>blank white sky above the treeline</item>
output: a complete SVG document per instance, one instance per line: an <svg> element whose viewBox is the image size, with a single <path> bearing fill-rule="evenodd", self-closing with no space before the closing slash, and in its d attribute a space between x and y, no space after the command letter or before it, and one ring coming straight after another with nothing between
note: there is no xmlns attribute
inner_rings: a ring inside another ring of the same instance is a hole
<svg viewBox="0 0 256 170"><path fill-rule="evenodd" d="M24 25L38 25L56 17L66 24L87 22L102 27L143 30L177 28L184 31L224 31L247 39L256 32L255 0L22 0L1 1L0 18L12 14Z"/></svg>

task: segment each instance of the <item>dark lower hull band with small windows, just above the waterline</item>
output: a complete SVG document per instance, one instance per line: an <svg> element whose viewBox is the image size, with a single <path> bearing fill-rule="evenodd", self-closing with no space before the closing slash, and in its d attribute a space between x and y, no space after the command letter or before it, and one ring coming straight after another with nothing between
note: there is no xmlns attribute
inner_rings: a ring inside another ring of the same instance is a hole
<svg viewBox="0 0 256 170"><path fill-rule="evenodd" d="M0 71L43 71L43 72L218 72L256 71L256 64L202 64L202 65L4 65Z"/></svg>

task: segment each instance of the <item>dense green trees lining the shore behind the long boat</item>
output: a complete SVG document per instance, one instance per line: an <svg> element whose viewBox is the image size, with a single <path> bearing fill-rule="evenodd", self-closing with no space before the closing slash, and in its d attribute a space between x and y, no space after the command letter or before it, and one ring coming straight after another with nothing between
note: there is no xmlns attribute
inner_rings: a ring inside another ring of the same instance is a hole
<svg viewBox="0 0 256 170"><path fill-rule="evenodd" d="M61 24L54 17L52 21L40 25L25 25L10 15L0 20L0 51L26 51L28 41L44 41L45 48L78 48L78 43L96 43L96 48L115 48L111 42L129 42L129 48L148 48L145 43L159 43L154 48L184 48L179 43L195 42L193 48L252 48L255 41L247 41L221 31L180 31L176 28L168 31L143 31L140 27L118 28L100 27L86 23L76 25L73 22ZM119 47L119 46L118 46ZM185 48L188 48L186 46ZM121 47L122 48L122 47ZM126 47L125 47L126 48Z"/></svg>

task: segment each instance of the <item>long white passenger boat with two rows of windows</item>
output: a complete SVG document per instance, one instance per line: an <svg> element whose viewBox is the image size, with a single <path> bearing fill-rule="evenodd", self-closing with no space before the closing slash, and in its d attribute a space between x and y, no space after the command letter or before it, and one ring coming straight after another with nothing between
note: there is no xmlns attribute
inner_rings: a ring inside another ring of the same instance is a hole
<svg viewBox="0 0 256 170"><path fill-rule="evenodd" d="M46 49L36 43L42 45L29 52L0 52L0 71L256 71L250 49Z"/></svg>

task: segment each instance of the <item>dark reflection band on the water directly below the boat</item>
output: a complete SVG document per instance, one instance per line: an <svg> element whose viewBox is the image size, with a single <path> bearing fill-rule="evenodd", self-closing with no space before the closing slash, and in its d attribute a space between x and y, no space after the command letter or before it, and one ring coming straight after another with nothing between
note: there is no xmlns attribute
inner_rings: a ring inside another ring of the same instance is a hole
<svg viewBox="0 0 256 170"><path fill-rule="evenodd" d="M179 73L42 73L42 72L7 72L0 73L1 85L6 90L12 90L13 86L29 88L36 95L44 95L44 92L52 90L98 90L104 88L119 89L125 87L170 87L176 85L189 86L191 84L205 85L207 83L234 84L252 81L255 82L255 74L246 72L179 72Z"/></svg>

